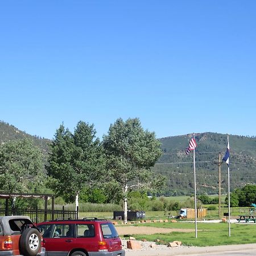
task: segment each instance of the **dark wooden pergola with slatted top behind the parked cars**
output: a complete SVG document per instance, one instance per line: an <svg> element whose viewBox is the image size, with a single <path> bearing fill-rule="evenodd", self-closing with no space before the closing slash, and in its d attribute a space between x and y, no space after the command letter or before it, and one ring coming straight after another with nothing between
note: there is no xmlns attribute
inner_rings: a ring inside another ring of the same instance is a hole
<svg viewBox="0 0 256 256"><path fill-rule="evenodd" d="M55 195L52 194L30 194L30 193L5 193L0 192L0 199L5 199L5 215L9 215L8 201L11 198L32 198L32 199L44 199L44 218L47 219L47 205L48 200L52 199L52 220L54 219L54 198Z"/></svg>

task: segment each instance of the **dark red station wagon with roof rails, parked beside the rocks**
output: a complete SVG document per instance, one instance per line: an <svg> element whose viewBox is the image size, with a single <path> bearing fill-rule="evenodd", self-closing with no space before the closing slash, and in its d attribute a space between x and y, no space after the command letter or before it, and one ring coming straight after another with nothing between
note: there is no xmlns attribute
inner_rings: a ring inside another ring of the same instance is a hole
<svg viewBox="0 0 256 256"><path fill-rule="evenodd" d="M45 221L38 225L47 256L125 256L112 222L97 218Z"/></svg>

